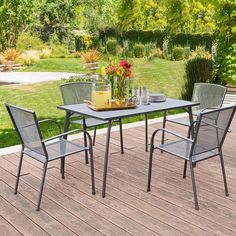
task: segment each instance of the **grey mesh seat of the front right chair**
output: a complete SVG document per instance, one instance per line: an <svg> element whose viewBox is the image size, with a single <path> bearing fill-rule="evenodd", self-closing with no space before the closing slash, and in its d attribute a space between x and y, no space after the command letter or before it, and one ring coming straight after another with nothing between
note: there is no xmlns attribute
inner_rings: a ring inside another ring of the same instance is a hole
<svg viewBox="0 0 236 236"><path fill-rule="evenodd" d="M181 139L181 140L177 140L177 141L160 145L157 148L165 152L171 153L175 156L178 156L180 158L183 158L185 160L189 160L189 155L192 148L192 142ZM193 162L198 162L198 161L201 161L201 160L204 160L204 159L207 159L209 157L216 156L219 154L218 150L216 149L206 151L204 148L200 147L199 145L195 145L195 150L197 150L197 152L200 154L192 156Z"/></svg>

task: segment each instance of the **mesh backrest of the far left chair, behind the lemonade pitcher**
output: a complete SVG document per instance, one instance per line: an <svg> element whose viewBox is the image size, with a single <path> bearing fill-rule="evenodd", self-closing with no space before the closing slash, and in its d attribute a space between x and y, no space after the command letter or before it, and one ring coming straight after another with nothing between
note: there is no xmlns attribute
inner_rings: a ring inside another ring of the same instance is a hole
<svg viewBox="0 0 236 236"><path fill-rule="evenodd" d="M60 86L62 99L65 105L84 103L91 100L92 82L73 82Z"/></svg>

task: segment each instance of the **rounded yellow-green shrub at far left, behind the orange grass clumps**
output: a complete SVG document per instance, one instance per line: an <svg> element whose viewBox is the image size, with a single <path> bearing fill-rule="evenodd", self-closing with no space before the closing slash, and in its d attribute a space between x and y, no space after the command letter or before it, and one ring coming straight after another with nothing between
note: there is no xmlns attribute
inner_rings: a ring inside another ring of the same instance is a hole
<svg viewBox="0 0 236 236"><path fill-rule="evenodd" d="M17 49L22 51L42 50L45 47L46 45L40 38L29 33L21 33L17 40Z"/></svg>

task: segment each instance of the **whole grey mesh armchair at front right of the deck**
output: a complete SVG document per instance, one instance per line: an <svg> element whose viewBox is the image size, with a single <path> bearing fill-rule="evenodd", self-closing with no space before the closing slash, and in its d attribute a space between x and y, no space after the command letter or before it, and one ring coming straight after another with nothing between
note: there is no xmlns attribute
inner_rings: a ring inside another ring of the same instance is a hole
<svg viewBox="0 0 236 236"><path fill-rule="evenodd" d="M199 209L199 205L193 168L199 161L216 156L220 157L225 195L228 196L222 145L233 119L235 109L236 106L230 106L211 110L206 109L205 111L201 112L198 115L197 120L193 122L189 128L190 133L191 129L195 125L195 133L192 139L186 138L167 129L157 129L151 138L147 191L151 190L153 152L154 149L160 149L161 151L168 152L189 162L196 210ZM154 146L154 139L159 131L166 132L173 137L176 137L176 140L172 140L159 146Z"/></svg>

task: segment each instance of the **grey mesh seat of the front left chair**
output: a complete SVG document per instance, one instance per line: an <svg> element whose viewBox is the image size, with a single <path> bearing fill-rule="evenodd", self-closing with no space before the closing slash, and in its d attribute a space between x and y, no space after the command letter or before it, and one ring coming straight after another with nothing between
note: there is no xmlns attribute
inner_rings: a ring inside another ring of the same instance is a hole
<svg viewBox="0 0 236 236"><path fill-rule="evenodd" d="M46 145L46 149L48 153L48 161L52 161L52 160L61 158L63 156L67 156L67 155L71 155L77 152L88 150L87 147L76 144L74 142L67 141L65 139L57 140L56 142L52 142L52 143L46 143L45 145ZM45 155L44 153L40 154L40 152L42 152L42 149L40 149L39 152L32 151L29 149L26 149L24 151L26 155L29 155L33 157L34 159L44 163Z"/></svg>

